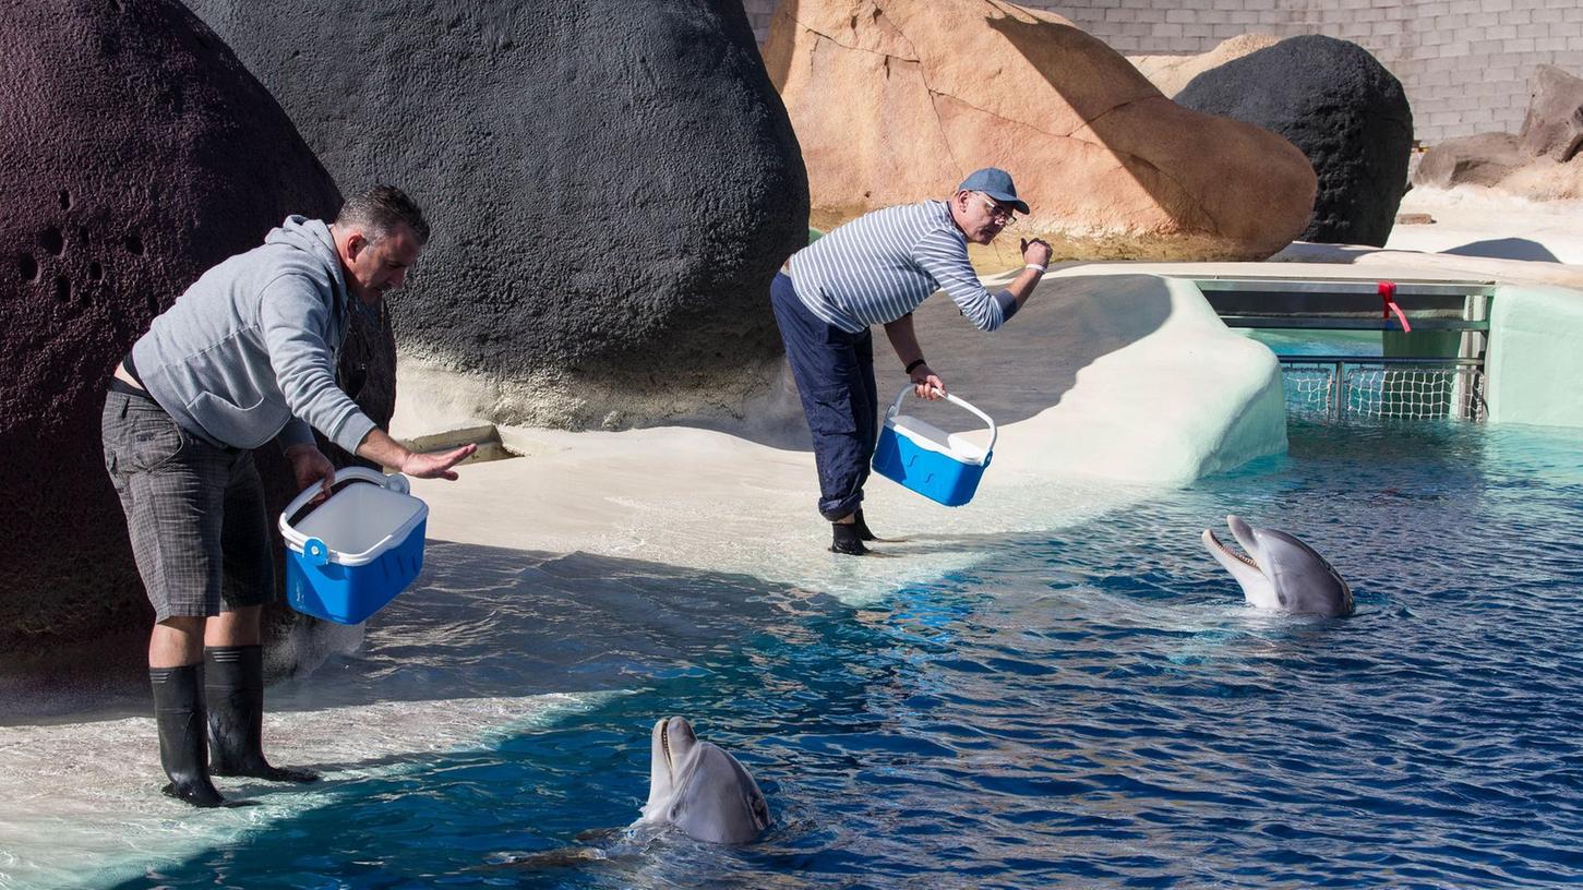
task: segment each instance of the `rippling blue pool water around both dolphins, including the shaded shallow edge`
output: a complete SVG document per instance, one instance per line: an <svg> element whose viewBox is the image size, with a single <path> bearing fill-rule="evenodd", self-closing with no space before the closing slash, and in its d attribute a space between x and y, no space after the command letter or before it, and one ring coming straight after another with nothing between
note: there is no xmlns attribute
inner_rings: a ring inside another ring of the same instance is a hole
<svg viewBox="0 0 1583 890"><path fill-rule="evenodd" d="M415 676L457 697L616 692L332 779L306 812L122 887L1583 882L1580 455L1577 432L1296 426L1287 456L986 538L977 569L867 607L437 543L424 588L328 673L370 695ZM1244 607L1198 545L1225 513L1327 554L1357 616ZM570 595L573 576L598 591ZM758 776L774 828L739 849L578 841L636 816L671 713ZM579 842L603 858L491 865Z"/></svg>

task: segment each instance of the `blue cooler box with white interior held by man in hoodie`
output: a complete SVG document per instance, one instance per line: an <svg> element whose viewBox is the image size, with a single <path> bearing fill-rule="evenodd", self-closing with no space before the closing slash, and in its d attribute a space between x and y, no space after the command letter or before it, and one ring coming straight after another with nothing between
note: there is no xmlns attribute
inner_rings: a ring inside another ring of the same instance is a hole
<svg viewBox="0 0 1583 890"><path fill-rule="evenodd" d="M287 602L291 608L358 624L396 599L423 569L429 505L408 494L404 475L364 467L336 470L336 491L301 524L294 516L318 494L318 485L296 496L280 513L287 538Z"/></svg>

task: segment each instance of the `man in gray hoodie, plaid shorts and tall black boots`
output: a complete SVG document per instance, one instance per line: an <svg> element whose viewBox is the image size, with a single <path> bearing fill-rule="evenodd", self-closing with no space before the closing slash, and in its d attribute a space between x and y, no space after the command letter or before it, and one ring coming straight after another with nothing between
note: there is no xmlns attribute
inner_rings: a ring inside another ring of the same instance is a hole
<svg viewBox="0 0 1583 890"><path fill-rule="evenodd" d="M104 466L127 512L155 626L149 679L165 793L222 806L211 774L310 782L263 754L260 618L274 554L252 450L274 439L298 485L329 491L331 442L421 478L456 478L465 445L408 451L336 383L355 306L400 287L429 239L418 206L378 185L334 223L288 217L204 272L154 320L104 401Z"/></svg>

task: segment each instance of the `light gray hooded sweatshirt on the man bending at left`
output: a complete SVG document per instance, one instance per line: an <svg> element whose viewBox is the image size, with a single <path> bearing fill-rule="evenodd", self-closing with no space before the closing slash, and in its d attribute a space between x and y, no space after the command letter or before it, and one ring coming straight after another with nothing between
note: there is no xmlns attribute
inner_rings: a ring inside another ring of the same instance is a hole
<svg viewBox="0 0 1583 890"><path fill-rule="evenodd" d="M348 299L329 226L287 217L187 288L131 359L154 401L211 443L312 443L312 424L356 451L375 424L336 385Z"/></svg>

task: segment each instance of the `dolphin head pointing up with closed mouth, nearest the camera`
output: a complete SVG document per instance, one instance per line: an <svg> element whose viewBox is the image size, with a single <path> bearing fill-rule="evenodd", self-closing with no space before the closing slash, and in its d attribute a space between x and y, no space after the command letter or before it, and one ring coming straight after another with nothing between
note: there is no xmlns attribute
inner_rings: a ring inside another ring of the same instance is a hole
<svg viewBox="0 0 1583 890"><path fill-rule="evenodd" d="M641 822L668 822L689 838L746 844L769 827L769 804L747 770L701 741L685 717L654 724L649 803Z"/></svg>

